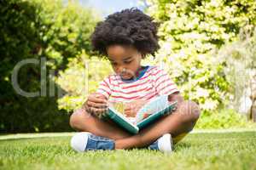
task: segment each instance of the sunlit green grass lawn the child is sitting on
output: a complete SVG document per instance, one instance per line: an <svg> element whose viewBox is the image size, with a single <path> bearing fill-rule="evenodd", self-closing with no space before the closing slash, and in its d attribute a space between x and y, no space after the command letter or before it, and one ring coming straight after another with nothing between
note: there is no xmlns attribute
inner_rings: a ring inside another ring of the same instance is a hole
<svg viewBox="0 0 256 170"><path fill-rule="evenodd" d="M0 135L0 169L256 169L256 130L199 131L171 155L152 150L76 153L72 133Z"/></svg>

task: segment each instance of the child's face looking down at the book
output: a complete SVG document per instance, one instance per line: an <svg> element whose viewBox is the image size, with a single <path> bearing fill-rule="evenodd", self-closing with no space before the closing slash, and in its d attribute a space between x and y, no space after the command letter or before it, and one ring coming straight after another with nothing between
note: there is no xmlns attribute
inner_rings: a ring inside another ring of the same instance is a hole
<svg viewBox="0 0 256 170"><path fill-rule="evenodd" d="M141 68L142 54L136 48L124 45L111 45L107 48L108 59L113 71L125 80L135 78Z"/></svg>

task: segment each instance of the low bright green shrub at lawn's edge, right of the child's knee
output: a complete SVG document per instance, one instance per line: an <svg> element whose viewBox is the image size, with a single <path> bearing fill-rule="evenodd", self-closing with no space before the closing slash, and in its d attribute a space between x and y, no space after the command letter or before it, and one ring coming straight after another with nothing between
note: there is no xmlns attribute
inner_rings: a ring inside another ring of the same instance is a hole
<svg viewBox="0 0 256 170"><path fill-rule="evenodd" d="M248 122L247 117L238 114L234 110L214 111L212 114L207 112L201 114L195 128L218 129L218 128L239 128L256 127L253 122Z"/></svg>

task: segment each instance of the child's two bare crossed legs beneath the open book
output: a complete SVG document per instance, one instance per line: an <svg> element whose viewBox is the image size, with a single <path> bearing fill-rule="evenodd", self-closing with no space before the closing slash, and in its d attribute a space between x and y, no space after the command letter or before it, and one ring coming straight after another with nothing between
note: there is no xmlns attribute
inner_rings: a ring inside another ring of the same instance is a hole
<svg viewBox="0 0 256 170"><path fill-rule="evenodd" d="M96 116L91 116L83 109L73 113L70 117L70 125L81 132L90 132L113 139L115 149L131 149L147 146L165 133L171 133L174 139L184 133L189 133L199 116L199 106L195 102L183 101L178 105L177 111L161 117L160 120L143 128L136 135L125 132L113 122L102 121Z"/></svg>

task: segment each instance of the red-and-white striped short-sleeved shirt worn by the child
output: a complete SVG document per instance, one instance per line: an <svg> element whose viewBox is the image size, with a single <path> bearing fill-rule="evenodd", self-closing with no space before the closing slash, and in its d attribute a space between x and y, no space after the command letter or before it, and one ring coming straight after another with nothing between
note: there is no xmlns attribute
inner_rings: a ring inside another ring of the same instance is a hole
<svg viewBox="0 0 256 170"><path fill-rule="evenodd" d="M147 66L143 76L132 82L125 82L117 74L109 75L99 84L97 93L103 94L109 102L130 102L149 100L163 94L178 92L166 71L158 66Z"/></svg>

